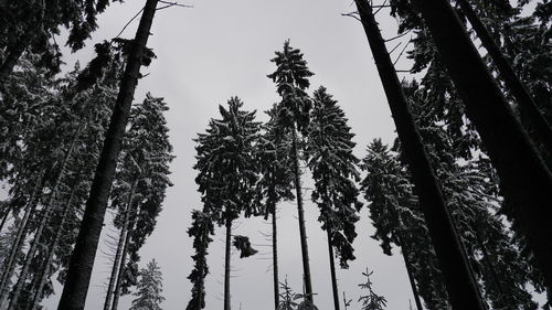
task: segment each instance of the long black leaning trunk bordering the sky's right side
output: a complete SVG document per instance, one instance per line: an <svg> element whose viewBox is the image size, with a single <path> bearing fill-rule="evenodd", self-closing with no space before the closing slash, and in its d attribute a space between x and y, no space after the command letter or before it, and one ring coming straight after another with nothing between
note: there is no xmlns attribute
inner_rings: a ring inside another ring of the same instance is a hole
<svg viewBox="0 0 552 310"><path fill-rule="evenodd" d="M422 137L410 113L401 82L372 13L372 7L365 0L355 0L355 3L388 97L401 147L420 196L420 206L437 254L450 303L455 310L484 310L486 306L479 293L471 266L446 207Z"/></svg>

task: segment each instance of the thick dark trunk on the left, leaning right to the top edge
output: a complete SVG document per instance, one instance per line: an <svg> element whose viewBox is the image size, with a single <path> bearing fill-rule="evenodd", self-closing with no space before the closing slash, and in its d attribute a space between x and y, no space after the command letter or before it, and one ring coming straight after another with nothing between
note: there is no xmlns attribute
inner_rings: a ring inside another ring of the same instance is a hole
<svg viewBox="0 0 552 310"><path fill-rule="evenodd" d="M96 257L99 235L104 224L107 200L115 175L117 159L120 153L125 128L140 75L144 50L156 13L158 0L147 0L144 13L132 42L119 94L104 140L104 147L94 174L88 201L84 211L81 231L71 257L67 278L57 306L59 310L82 310L91 281L92 268Z"/></svg>

